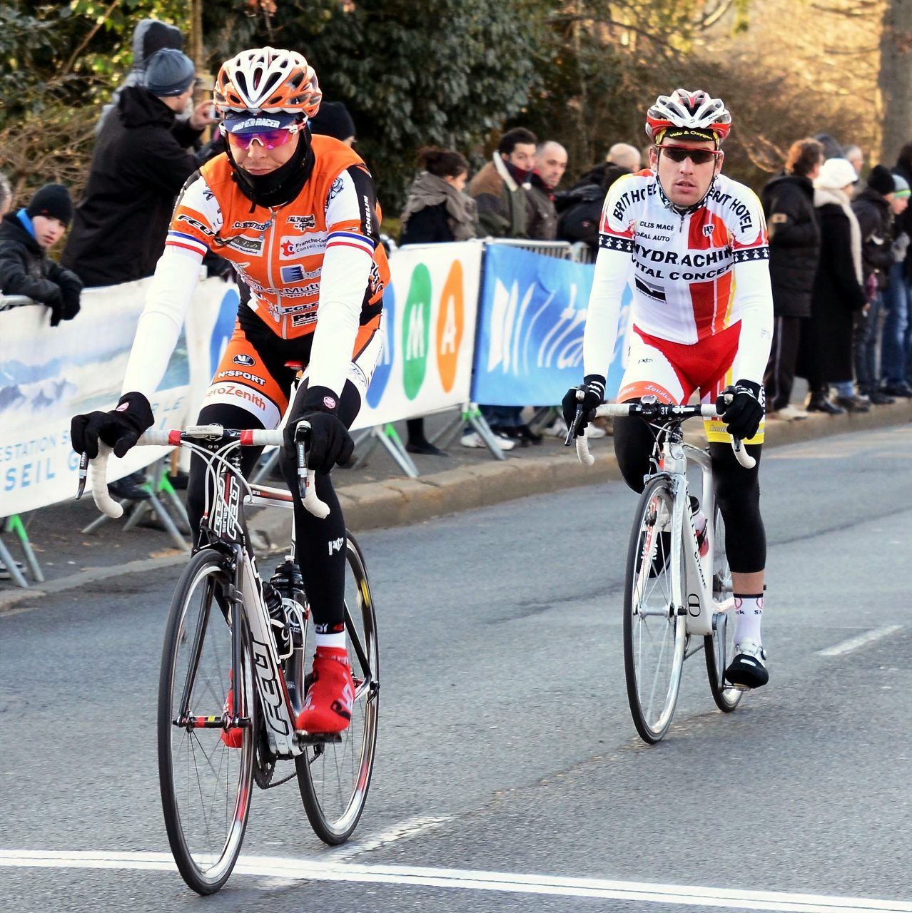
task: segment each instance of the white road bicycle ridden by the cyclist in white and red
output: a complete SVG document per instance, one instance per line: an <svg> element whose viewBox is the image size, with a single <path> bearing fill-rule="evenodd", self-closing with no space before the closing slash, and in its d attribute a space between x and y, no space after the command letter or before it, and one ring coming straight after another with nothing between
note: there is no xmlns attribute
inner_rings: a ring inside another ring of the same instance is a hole
<svg viewBox="0 0 912 913"><path fill-rule="evenodd" d="M698 650L705 651L716 707L730 713L744 697L744 690L725 678L734 656L735 624L730 614L735 600L709 449L684 442L682 428L689 418L719 416L715 405L663 404L652 396L644 396L642 403L602 404L595 415L638 416L656 430L652 472L645 479L627 551L623 626L624 676L633 724L642 740L653 744L672 724L684 660ZM572 435L571 429L568 445ZM576 441L579 459L591 465L594 457L586 436ZM732 446L743 467L755 465L740 441L734 439ZM700 506L712 518L706 523L702 550L692 518L688 462L699 467Z"/></svg>

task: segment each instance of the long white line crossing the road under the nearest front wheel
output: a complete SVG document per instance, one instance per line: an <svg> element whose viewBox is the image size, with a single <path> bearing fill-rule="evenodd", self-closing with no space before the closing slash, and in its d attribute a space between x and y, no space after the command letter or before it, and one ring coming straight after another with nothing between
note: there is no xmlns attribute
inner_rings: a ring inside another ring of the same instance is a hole
<svg viewBox="0 0 912 913"><path fill-rule="evenodd" d="M95 853L0 850L0 867L133 869L174 871L166 853ZM645 903L682 904L748 910L782 910L786 913L912 913L912 903L867 897L829 897L788 891L741 891L724 887L658 885L602 878L483 872L472 869L420 866L361 866L355 863L308 862L274 856L242 856L236 874L281 878L287 881L345 881L375 885L415 885L462 890L501 891L510 894L546 894L557 897L598 897L641 900Z"/></svg>

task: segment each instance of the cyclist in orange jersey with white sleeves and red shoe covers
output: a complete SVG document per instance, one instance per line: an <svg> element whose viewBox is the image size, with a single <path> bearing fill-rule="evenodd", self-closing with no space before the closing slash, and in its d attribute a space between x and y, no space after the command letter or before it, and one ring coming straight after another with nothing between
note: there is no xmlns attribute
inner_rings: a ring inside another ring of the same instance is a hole
<svg viewBox="0 0 912 913"><path fill-rule="evenodd" d="M295 496L295 559L313 610L316 654L298 729L348 726L354 685L345 649L345 519L329 472L351 456L352 425L380 352L383 289L389 280L379 244L374 182L344 143L312 136L308 122L322 93L295 51L243 51L218 72L215 105L227 151L187 181L130 353L123 395L111 412L77 415L73 446L95 456L101 438L122 456L153 425L150 400L164 375L200 264L211 250L239 275L234 334L206 394L198 424L275 428L295 370L307 365L286 425L281 467ZM319 498L316 519L302 507L293 429L312 426L308 465ZM260 450L245 447L245 475ZM195 457L187 509L198 529L206 473ZM229 697L230 700L230 697ZM237 747L239 733L223 739Z"/></svg>

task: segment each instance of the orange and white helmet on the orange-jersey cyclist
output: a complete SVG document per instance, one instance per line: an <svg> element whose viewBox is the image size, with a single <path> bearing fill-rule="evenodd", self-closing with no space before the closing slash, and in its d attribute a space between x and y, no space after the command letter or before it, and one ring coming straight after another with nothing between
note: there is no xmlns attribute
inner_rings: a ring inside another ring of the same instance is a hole
<svg viewBox="0 0 912 913"><path fill-rule="evenodd" d="M255 47L226 60L214 96L222 117L264 111L310 120L323 100L313 67L297 51L275 47Z"/></svg>

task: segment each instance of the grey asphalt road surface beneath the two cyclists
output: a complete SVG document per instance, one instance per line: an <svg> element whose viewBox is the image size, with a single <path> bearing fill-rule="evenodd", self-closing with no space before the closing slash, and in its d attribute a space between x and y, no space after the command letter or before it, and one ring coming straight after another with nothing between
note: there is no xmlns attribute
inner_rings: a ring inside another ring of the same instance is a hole
<svg viewBox="0 0 912 913"><path fill-rule="evenodd" d="M158 801L178 569L18 603L0 614L0 908L912 910L910 443L901 426L764 456L769 687L723 716L693 657L652 748L623 684L626 488L366 533L383 668L366 813L330 849L293 782L258 792L205 901Z"/></svg>

